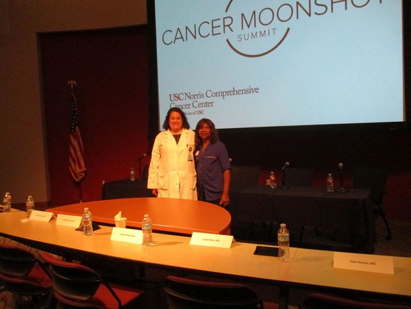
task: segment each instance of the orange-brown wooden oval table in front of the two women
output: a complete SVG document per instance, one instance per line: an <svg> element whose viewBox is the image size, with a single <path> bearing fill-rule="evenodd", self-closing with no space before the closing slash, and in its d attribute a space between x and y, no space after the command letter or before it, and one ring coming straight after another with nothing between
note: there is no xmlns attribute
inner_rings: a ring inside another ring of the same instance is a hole
<svg viewBox="0 0 411 309"><path fill-rule="evenodd" d="M121 211L127 218L127 227L141 227L145 214L153 222L153 230L188 234L202 232L229 234L231 215L220 206L205 201L170 199L158 197L137 197L132 199L107 199L89 201L49 208L54 214L81 216L85 207L92 213L93 221L114 225L114 216Z"/></svg>

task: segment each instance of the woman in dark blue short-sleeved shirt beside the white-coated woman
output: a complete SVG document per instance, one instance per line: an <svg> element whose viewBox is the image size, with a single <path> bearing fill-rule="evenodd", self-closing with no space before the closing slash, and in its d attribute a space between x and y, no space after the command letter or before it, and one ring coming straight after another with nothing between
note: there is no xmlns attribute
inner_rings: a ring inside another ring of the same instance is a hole
<svg viewBox="0 0 411 309"><path fill-rule="evenodd" d="M199 200L223 207L229 204L230 164L227 149L214 123L201 119L195 128L195 163Z"/></svg>

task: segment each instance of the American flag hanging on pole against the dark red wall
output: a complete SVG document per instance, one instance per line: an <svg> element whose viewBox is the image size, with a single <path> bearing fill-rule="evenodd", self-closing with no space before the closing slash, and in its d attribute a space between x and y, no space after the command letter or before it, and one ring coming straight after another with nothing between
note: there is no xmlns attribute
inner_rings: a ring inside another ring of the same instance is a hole
<svg viewBox="0 0 411 309"><path fill-rule="evenodd" d="M77 106L75 95L71 94L71 128L70 128L70 155L69 170L76 182L79 182L86 176L86 164L84 164L84 147L82 135L80 134L77 123Z"/></svg>

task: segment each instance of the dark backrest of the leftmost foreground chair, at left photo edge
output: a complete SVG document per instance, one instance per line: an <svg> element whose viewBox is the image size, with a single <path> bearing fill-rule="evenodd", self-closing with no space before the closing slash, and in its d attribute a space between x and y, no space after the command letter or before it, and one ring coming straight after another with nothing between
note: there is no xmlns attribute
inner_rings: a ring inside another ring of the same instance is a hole
<svg viewBox="0 0 411 309"><path fill-rule="evenodd" d="M30 251L14 245L0 244L0 273L23 277L32 271L36 258Z"/></svg>

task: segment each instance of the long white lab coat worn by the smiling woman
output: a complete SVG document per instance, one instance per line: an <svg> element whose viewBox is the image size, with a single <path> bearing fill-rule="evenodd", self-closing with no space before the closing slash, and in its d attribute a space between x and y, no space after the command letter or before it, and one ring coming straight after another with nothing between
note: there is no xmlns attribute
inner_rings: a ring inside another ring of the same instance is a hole
<svg viewBox="0 0 411 309"><path fill-rule="evenodd" d="M155 137L147 188L158 189L158 197L197 199L194 136L183 129L178 145L170 130Z"/></svg>

